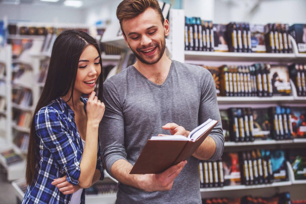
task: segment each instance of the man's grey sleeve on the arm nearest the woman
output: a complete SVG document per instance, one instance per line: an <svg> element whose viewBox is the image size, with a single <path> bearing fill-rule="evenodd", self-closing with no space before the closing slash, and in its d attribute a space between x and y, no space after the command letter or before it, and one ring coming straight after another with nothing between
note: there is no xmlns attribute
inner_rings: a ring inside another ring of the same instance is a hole
<svg viewBox="0 0 306 204"><path fill-rule="evenodd" d="M99 139L102 157L106 171L110 171L114 162L119 159L127 160L124 146L124 116L120 98L115 86L108 80L103 84L104 116L99 125Z"/></svg>

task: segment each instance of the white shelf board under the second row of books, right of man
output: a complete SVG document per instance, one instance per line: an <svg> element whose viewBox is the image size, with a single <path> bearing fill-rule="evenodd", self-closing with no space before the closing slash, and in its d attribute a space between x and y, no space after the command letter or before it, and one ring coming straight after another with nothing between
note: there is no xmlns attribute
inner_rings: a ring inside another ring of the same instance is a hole
<svg viewBox="0 0 306 204"><path fill-rule="evenodd" d="M267 102L292 102L294 100L293 96L272 96L272 97L224 97L218 96L217 97L218 104L259 104L259 103L267 103Z"/></svg>

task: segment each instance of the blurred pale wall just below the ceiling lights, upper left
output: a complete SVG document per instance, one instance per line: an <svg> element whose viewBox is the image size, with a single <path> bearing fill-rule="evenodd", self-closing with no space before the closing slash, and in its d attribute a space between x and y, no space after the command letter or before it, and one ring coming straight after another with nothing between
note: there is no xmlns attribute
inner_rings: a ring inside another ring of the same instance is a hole
<svg viewBox="0 0 306 204"><path fill-rule="evenodd" d="M85 9L52 5L7 5L0 4L0 19L34 22L59 22L64 24L84 24Z"/></svg>

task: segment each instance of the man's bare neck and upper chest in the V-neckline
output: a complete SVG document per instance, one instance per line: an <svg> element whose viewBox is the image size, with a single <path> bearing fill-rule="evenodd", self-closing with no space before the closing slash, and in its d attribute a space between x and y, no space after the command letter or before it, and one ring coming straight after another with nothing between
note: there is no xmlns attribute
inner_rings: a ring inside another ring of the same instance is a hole
<svg viewBox="0 0 306 204"><path fill-rule="evenodd" d="M134 67L151 82L162 85L166 80L171 66L171 60L163 54L162 58L155 64L145 64L136 61Z"/></svg>

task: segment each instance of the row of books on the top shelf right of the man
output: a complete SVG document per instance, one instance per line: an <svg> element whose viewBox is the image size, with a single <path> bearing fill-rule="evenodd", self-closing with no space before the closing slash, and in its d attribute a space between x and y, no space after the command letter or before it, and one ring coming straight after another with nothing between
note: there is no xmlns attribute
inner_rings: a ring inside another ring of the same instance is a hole
<svg viewBox="0 0 306 204"><path fill-rule="evenodd" d="M256 25L231 22L213 24L199 17L185 16L185 50L219 52L292 53L290 35L300 53L306 52L303 27L306 24Z"/></svg>

